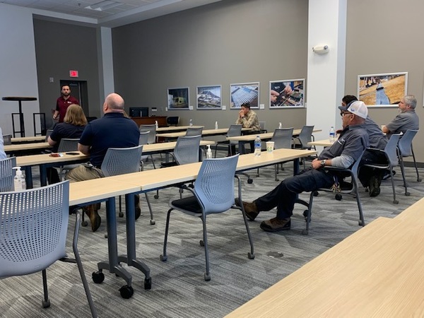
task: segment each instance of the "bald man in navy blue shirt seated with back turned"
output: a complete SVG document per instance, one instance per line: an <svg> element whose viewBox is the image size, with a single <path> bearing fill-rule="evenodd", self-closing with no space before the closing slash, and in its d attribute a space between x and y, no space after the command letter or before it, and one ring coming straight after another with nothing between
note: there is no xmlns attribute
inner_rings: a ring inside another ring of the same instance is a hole
<svg viewBox="0 0 424 318"><path fill-rule="evenodd" d="M78 151L90 155L90 165L83 164L66 174L71 182L104 177L100 167L108 148L139 146L140 131L137 124L124 116L124 99L117 93L107 95L103 104L105 116L89 122L81 135ZM136 219L140 216L139 196L136 196ZM101 218L95 204L87 206L93 232L98 230Z"/></svg>

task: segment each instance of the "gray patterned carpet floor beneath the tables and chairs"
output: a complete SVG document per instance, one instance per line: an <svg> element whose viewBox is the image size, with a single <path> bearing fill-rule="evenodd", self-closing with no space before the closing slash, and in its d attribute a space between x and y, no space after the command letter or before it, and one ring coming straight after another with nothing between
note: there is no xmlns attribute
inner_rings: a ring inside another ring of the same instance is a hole
<svg viewBox="0 0 424 318"><path fill-rule="evenodd" d="M151 168L147 164L146 168ZM382 183L382 193L370 198L360 189L365 222L379 216L392 218L423 196L424 182L416 182L416 173L406 168L411 196L404 195L400 170L395 175L399 204L392 204L391 183ZM285 164L280 179L292 174L292 165ZM424 174L422 169L421 173ZM37 171L34 173L37 178ZM278 184L273 167L260 170L253 184L243 179L243 199L251 201ZM187 195L187 193L184 193ZM95 284L91 273L98 261L107 259L105 205L100 215L104 219L97 232L81 228L78 248L88 277L91 293L99 317L223 317L247 300L261 293L273 283L292 273L326 249L358 230L358 208L353 197L346 195L336 201L333 194L319 194L314 199L310 234L305 228L302 212L297 205L292 218L292 229L281 233L267 233L259 228L261 220L275 216L275 210L263 212L256 221L249 222L254 240L255 259L248 259L249 242L240 211L233 210L208 217L208 243L211 262L211 281L204 281L204 249L201 220L175 212L171 215L168 259L160 261L167 202L177 198L175 188L160 191L159 199L149 196L153 205L155 225L150 225L146 203L142 196L143 216L136 222L136 252L151 269L152 288L144 290L143 273L124 267L133 276L134 295L125 300L119 295L124 280L105 273L105 281ZM309 194L301 194L309 200ZM69 255L72 256L72 222L69 226ZM126 251L125 218L118 218L118 250ZM280 257L281 256L281 257ZM0 281L0 317L89 317L90 311L75 264L57 262L47 271L51 307L42 309L41 273Z"/></svg>

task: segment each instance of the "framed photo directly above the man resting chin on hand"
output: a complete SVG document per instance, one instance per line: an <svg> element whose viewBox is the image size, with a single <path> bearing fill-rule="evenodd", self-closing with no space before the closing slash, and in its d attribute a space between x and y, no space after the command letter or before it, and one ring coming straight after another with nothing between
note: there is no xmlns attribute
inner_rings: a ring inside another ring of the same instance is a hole
<svg viewBox="0 0 424 318"><path fill-rule="evenodd" d="M243 103L259 108L259 82L230 84L230 109L240 110Z"/></svg>

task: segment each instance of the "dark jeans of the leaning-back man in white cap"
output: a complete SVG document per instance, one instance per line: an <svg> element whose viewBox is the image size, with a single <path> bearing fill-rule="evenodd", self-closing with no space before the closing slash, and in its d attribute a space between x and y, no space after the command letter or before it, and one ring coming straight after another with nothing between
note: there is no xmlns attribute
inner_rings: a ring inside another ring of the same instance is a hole
<svg viewBox="0 0 424 318"><path fill-rule="evenodd" d="M334 178L331 173L322 169L308 168L300 172L300 175L284 179L275 189L256 199L254 203L259 211L269 211L277 207L277 218L290 218L298 194L329 188L333 184Z"/></svg>

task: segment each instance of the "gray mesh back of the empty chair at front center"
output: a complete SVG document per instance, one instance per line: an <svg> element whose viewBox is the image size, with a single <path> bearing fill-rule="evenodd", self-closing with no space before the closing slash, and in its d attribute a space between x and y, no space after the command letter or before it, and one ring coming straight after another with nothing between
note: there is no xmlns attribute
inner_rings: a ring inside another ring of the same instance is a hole
<svg viewBox="0 0 424 318"><path fill-rule="evenodd" d="M194 193L206 214L227 211L234 204L234 176L239 155L205 159L194 182Z"/></svg>

